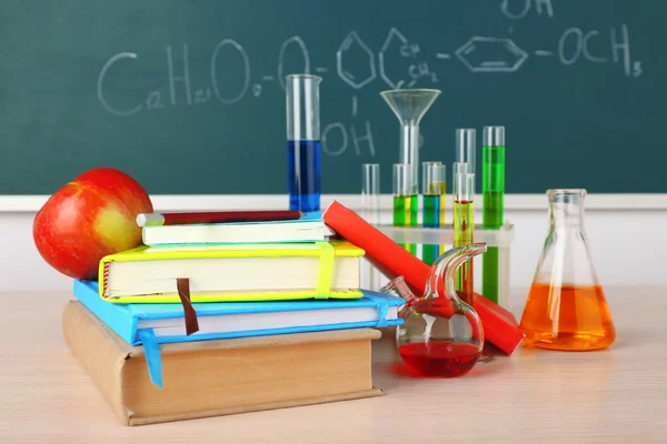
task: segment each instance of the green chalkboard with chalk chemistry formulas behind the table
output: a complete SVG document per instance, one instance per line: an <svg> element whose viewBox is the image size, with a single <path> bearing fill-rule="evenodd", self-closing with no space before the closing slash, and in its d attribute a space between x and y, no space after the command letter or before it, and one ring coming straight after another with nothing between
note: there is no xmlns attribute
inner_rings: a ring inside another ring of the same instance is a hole
<svg viewBox="0 0 667 444"><path fill-rule="evenodd" d="M391 192L392 88L442 91L420 160L450 165L457 128L480 143L502 124L508 193L667 192L666 14L635 0L6 0L0 193L108 165L155 194L283 194L293 72L323 78L323 193L359 193L367 162Z"/></svg>

